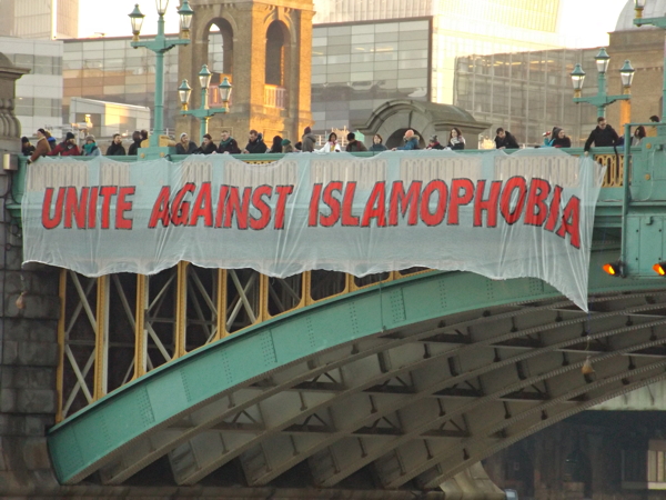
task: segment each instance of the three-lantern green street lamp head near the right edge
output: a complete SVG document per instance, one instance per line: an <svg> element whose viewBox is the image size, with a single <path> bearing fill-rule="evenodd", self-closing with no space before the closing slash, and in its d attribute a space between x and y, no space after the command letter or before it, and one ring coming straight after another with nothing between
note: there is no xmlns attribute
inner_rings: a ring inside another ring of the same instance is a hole
<svg viewBox="0 0 666 500"><path fill-rule="evenodd" d="M606 107L608 104L612 104L615 101L628 100L632 98L630 88L632 81L634 80L634 68L632 68L632 63L628 60L625 61L624 66L619 70L622 86L624 89L623 94L608 96L606 90L606 72L608 71L610 56L608 56L606 49L602 47L599 49L599 52L595 56L594 60L596 61L597 67L597 93L596 96L591 96L586 98L581 97L581 91L583 90L583 82L585 81L585 71L583 71L583 68L578 63L574 68L574 71L571 72L572 83L574 84L574 102L587 102L588 104L596 106L597 117L605 117Z"/></svg>

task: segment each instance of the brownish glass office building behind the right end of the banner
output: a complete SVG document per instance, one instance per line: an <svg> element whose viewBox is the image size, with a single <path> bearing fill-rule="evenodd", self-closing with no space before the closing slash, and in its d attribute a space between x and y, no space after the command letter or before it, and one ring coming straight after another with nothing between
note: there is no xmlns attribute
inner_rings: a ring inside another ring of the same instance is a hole
<svg viewBox="0 0 666 500"><path fill-rule="evenodd" d="M583 146L596 127L596 108L575 104L569 73L576 63L595 68L597 49L543 50L490 56L465 56L456 60L454 103L494 130L509 130L521 143L541 144L543 133L557 126ZM597 89L588 81L583 96Z"/></svg>

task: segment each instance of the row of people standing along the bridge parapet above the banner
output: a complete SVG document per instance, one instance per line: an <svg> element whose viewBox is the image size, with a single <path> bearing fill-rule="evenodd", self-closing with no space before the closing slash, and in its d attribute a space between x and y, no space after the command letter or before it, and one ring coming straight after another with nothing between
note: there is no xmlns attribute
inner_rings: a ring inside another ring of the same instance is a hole
<svg viewBox="0 0 666 500"><path fill-rule="evenodd" d="M650 117L650 122L658 123L659 117ZM645 137L656 136L655 127L643 127L639 126L634 130L632 136L630 146L639 146ZM544 148L571 148L572 140L566 136L565 130L562 127L553 127L548 132L544 133L544 141L541 147ZM256 130L250 130L248 134L248 143L243 149L239 146L239 142L231 137L231 132L226 129L220 132L220 140L215 143L213 137L210 133L203 136L201 146L196 146L194 141L190 139L188 133L183 132L180 134L175 146L176 154L258 154L258 153L292 153L292 152L361 152L372 151L381 152L386 151L389 148L384 144L384 139L379 133L372 139L372 146L367 148L362 141L356 139L354 132L346 134L346 143L343 146L339 141L337 134L331 132L326 142L320 148L317 146L316 136L312 132L310 127L305 127L303 134L297 142L292 144L292 141L281 136L274 136L272 142L266 144L264 137ZM22 139L22 152L28 158L28 162L36 161L40 157L71 157L71 156L87 156L97 157L101 156L102 152L98 146L94 136L88 134L83 141L83 144L79 147L77 138L72 132L67 132L62 142L58 141L51 136L46 129L38 129L37 142L32 144L27 137ZM104 156L135 156L140 148L149 146L149 133L147 130L137 130L132 134L132 143L125 150L122 143L122 136L114 133L111 140L111 144L107 148ZM494 139L496 149L518 149L519 144L517 139L504 128L500 127L495 131ZM445 142L440 141L438 136L431 136L427 144L421 143L421 138L416 134L413 129L407 129L404 133L402 146L391 148L392 151L410 151L417 149L426 150L452 150L460 151L465 149L465 138L460 128L453 127L448 133L448 139ZM584 151L588 154L592 146L599 147L619 147L624 144L624 138L618 136L615 129L610 127L604 117L597 119L597 127L589 133L589 137L585 141ZM422 146L425 146L422 148Z"/></svg>

